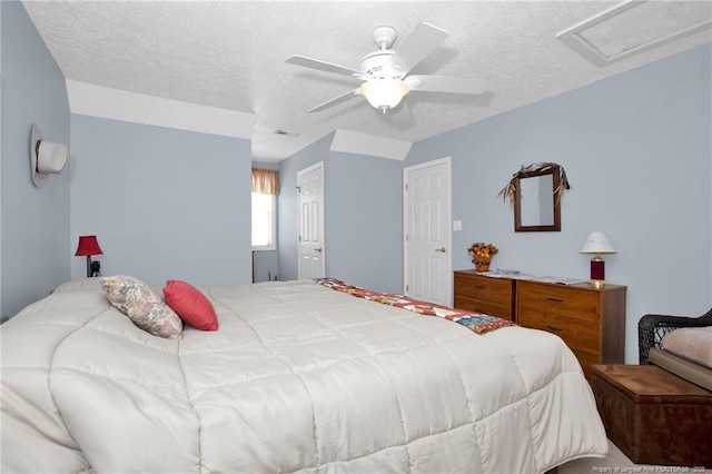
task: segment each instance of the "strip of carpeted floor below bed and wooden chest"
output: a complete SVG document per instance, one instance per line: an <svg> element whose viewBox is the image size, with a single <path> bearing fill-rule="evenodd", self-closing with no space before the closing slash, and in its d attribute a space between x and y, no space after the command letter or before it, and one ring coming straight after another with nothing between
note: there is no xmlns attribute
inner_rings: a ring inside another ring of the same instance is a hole
<svg viewBox="0 0 712 474"><path fill-rule="evenodd" d="M704 467L688 466L651 466L633 464L611 441L609 455L603 458L585 457L571 461L558 466L558 474L591 474L591 473L712 473Z"/></svg>

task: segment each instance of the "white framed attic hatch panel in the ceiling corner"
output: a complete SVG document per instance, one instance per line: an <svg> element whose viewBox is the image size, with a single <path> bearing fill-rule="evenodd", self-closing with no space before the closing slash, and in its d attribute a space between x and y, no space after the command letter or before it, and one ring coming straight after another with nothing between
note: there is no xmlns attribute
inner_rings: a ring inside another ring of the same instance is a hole
<svg viewBox="0 0 712 474"><path fill-rule="evenodd" d="M556 38L594 65L606 66L711 27L711 2L629 0Z"/></svg>

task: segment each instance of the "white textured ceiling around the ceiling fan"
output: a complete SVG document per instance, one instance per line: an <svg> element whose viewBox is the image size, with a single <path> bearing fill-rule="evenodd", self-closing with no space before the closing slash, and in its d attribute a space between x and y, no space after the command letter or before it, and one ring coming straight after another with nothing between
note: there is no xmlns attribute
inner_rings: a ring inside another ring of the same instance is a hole
<svg viewBox="0 0 712 474"><path fill-rule="evenodd" d="M712 41L703 28L599 67L556 38L620 1L22 3L68 80L254 113L256 160L283 159L336 129L415 142ZM672 11L684 18L673 17L683 26L712 17L711 1L665 3L675 6ZM664 11L670 18L671 10ZM357 69L376 49L374 27L395 27L397 50L423 21L449 37L412 72L484 78L486 93L411 93L404 98L412 112L406 120L384 116L360 97L307 113L359 81L285 59L304 55ZM666 20L645 21L637 14L594 32L620 37L602 38L604 43L625 43L627 30L637 37L644 31L646 40L659 28L670 33Z"/></svg>

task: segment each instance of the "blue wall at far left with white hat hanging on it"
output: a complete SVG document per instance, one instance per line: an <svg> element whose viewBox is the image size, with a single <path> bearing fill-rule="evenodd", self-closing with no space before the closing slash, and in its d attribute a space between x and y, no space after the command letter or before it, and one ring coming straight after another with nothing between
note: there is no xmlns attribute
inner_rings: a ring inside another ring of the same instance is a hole
<svg viewBox="0 0 712 474"><path fill-rule="evenodd" d="M69 279L69 171L36 188L30 128L70 145L65 78L19 1L2 11L1 314L12 316ZM68 169L72 167L69 147Z"/></svg>

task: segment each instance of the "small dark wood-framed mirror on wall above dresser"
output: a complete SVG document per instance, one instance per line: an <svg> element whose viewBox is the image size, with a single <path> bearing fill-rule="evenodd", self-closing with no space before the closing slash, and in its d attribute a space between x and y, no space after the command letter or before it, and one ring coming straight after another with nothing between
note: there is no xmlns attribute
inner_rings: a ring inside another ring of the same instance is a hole
<svg viewBox="0 0 712 474"><path fill-rule="evenodd" d="M550 168L515 177L514 231L560 231L558 172Z"/></svg>

